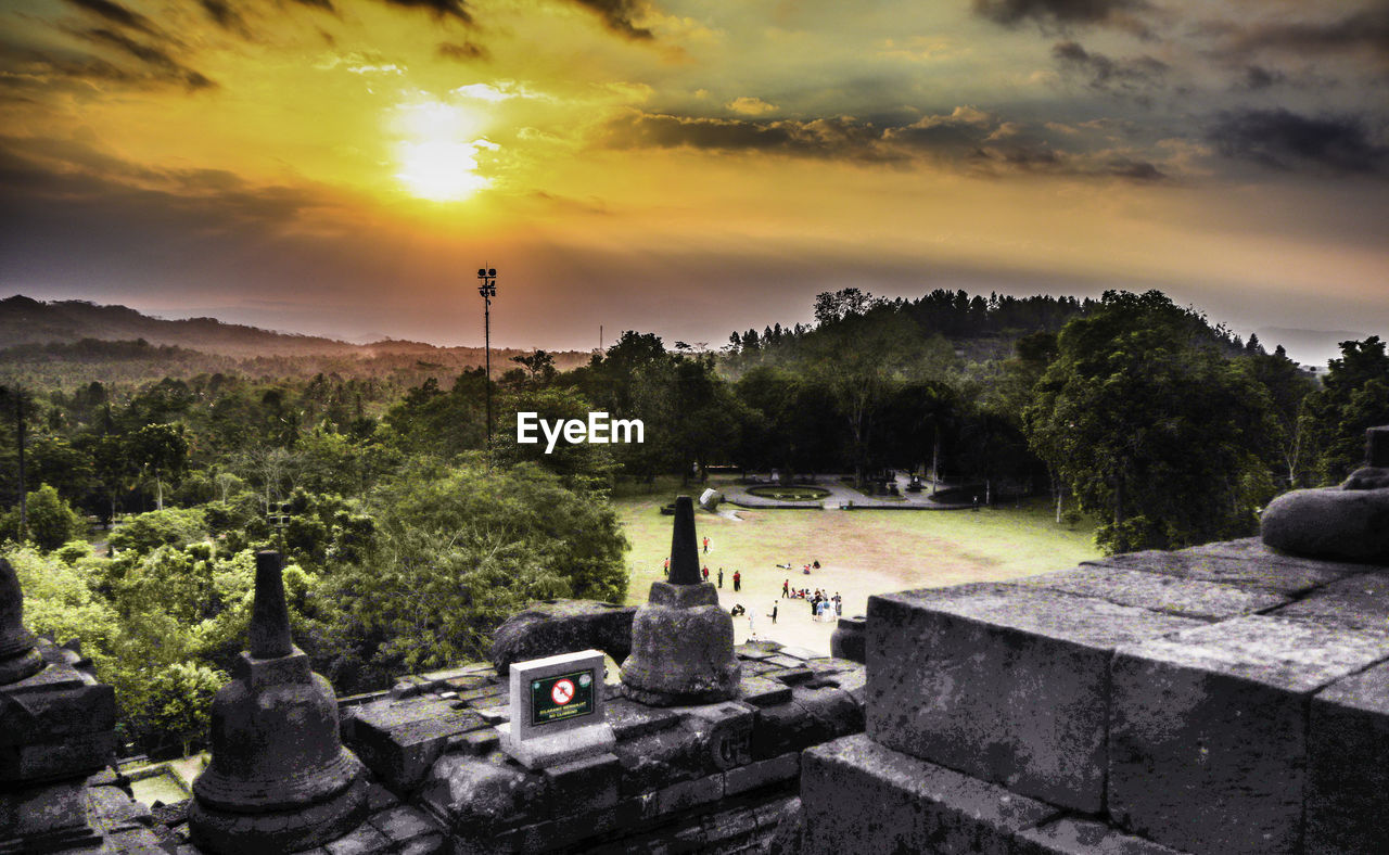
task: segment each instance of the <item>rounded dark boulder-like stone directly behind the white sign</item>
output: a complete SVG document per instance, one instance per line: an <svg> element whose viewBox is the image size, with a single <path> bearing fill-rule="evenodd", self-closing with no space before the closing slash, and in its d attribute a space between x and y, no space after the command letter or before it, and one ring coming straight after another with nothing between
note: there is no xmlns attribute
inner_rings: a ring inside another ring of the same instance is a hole
<svg viewBox="0 0 1389 855"><path fill-rule="evenodd" d="M593 600L538 602L497 627L492 665L499 675L507 675L513 662L581 650L601 650L621 665L632 652L633 615L636 607Z"/></svg>

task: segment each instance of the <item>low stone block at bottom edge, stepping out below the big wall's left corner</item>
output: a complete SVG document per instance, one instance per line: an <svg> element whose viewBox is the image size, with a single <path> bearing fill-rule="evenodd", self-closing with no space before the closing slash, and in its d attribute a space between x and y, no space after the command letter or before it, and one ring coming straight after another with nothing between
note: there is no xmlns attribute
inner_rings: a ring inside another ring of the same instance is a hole
<svg viewBox="0 0 1389 855"><path fill-rule="evenodd" d="M806 855L1008 852L1021 830L1058 815L1039 801L847 736L801 755Z"/></svg>

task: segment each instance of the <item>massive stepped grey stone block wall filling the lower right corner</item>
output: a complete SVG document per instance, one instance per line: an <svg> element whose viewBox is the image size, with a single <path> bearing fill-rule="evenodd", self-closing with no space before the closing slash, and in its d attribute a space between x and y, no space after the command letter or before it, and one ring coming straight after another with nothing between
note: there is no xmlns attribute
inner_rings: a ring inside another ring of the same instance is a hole
<svg viewBox="0 0 1389 855"><path fill-rule="evenodd" d="M1249 539L886 594L867 666L792 849L1389 852L1389 566Z"/></svg>

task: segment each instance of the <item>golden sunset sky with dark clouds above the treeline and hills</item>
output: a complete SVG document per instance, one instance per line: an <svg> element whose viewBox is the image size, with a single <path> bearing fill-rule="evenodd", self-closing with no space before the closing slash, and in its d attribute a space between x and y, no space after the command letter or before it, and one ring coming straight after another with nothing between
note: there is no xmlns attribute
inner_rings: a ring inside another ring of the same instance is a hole
<svg viewBox="0 0 1389 855"><path fill-rule="evenodd" d="M721 344L861 286L1389 332L1389 1L0 0L0 290Z"/></svg>

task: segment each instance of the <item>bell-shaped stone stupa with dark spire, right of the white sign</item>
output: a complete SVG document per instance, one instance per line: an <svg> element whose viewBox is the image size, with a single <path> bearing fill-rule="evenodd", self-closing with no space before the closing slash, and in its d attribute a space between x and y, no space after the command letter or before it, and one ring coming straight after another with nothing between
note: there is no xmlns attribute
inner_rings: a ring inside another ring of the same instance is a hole
<svg viewBox="0 0 1389 855"><path fill-rule="evenodd" d="M703 582L694 545L694 502L675 500L669 582L651 583L632 620L632 655L622 691L654 706L713 704L738 694L742 665L733 655L733 619L718 590Z"/></svg>

